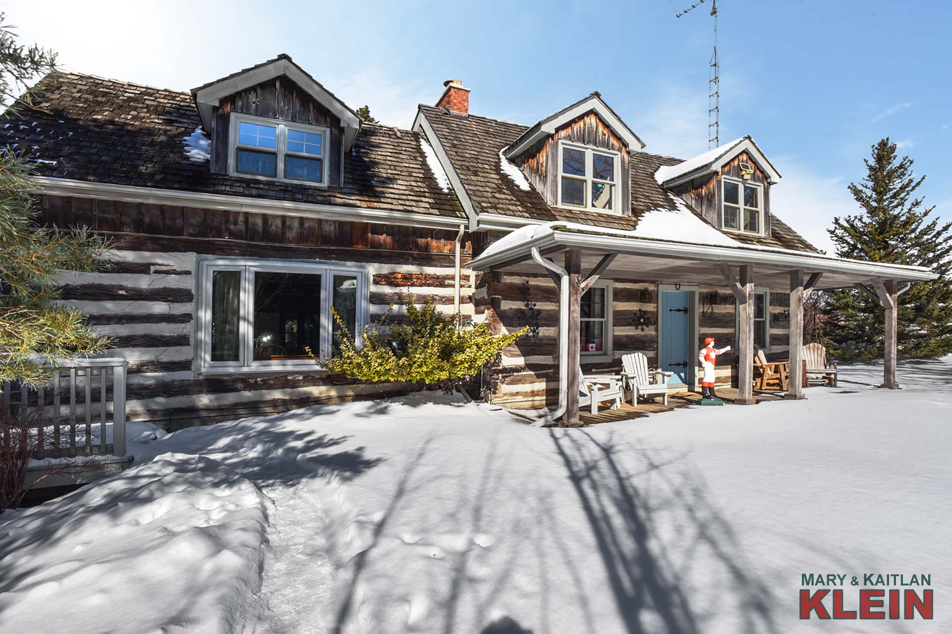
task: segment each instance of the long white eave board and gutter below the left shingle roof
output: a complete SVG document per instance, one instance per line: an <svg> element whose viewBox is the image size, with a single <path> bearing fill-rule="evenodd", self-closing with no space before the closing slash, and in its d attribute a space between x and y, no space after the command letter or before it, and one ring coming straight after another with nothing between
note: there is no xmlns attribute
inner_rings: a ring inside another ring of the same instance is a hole
<svg viewBox="0 0 952 634"><path fill-rule="evenodd" d="M170 204L201 209L244 211L255 214L320 218L335 221L403 224L436 229L459 229L460 226L466 225L467 222L465 218L414 214L395 209L346 207L335 204L321 204L318 202L249 199L239 196L226 196L223 194L204 194L201 192L189 192L178 189L155 189L151 187L136 187L111 183L89 183L87 181L71 181L69 179L55 179L45 176L33 177L32 181L39 185L33 190L35 193L50 194L51 196Z"/></svg>

